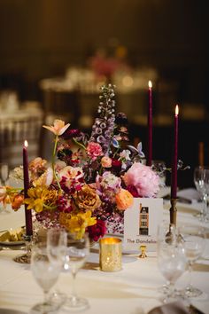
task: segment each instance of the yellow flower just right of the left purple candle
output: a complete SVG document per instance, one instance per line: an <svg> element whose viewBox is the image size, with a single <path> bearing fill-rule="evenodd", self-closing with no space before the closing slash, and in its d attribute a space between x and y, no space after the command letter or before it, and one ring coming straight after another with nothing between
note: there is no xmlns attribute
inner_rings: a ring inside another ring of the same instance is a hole
<svg viewBox="0 0 209 314"><path fill-rule="evenodd" d="M50 190L47 186L31 187L27 191L27 196L24 201L28 205L27 209L34 209L37 213L57 207L58 191Z"/></svg>

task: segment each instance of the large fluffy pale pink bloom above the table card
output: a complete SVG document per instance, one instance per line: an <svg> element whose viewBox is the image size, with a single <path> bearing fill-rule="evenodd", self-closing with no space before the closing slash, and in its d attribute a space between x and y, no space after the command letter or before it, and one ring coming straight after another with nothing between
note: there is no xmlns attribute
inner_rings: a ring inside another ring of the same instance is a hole
<svg viewBox="0 0 209 314"><path fill-rule="evenodd" d="M159 192L159 176L140 162L128 169L123 180L127 186L133 185L140 197L154 197Z"/></svg>

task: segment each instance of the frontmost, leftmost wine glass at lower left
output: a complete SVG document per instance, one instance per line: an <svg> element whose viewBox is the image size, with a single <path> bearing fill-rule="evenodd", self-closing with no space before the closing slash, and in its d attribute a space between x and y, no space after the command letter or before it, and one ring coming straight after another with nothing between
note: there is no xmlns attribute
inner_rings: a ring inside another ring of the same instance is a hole
<svg viewBox="0 0 209 314"><path fill-rule="evenodd" d="M60 272L58 263L51 263L47 254L45 243L37 243L32 248L31 255L31 271L37 284L43 288L43 302L35 304L32 311L36 313L48 313L58 310L60 303L53 298L48 298L50 288L55 285Z"/></svg>

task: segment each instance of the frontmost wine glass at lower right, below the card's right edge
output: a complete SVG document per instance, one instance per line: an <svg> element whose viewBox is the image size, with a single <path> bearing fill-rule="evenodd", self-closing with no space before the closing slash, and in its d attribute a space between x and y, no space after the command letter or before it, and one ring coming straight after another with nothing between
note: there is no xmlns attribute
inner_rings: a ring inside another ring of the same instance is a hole
<svg viewBox="0 0 209 314"><path fill-rule="evenodd" d="M178 294L175 290L175 282L185 271L187 260L182 243L178 242L160 242L158 245L158 266L159 271L166 279L166 289L162 302L173 301Z"/></svg>

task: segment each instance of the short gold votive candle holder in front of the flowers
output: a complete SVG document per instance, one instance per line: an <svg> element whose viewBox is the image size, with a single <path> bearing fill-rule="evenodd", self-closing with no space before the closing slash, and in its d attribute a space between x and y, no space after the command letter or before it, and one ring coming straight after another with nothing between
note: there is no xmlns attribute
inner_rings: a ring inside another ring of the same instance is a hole
<svg viewBox="0 0 209 314"><path fill-rule="evenodd" d="M99 240L99 266L101 271L120 271L122 268L121 239Z"/></svg>

